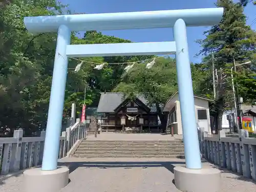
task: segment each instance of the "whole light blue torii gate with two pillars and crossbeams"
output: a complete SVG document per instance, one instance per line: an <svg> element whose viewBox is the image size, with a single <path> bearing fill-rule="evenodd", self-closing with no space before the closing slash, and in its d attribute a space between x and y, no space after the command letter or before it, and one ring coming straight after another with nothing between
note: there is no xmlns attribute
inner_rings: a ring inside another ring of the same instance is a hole
<svg viewBox="0 0 256 192"><path fill-rule="evenodd" d="M217 25L223 8L25 17L31 33L58 32L42 171L57 169L69 57L176 54L178 91L188 169L201 169L186 27ZM172 42L70 45L71 31L174 28ZM211 181L213 182L213 181ZM216 184L216 183L215 183ZM39 189L38 189L39 190Z"/></svg>

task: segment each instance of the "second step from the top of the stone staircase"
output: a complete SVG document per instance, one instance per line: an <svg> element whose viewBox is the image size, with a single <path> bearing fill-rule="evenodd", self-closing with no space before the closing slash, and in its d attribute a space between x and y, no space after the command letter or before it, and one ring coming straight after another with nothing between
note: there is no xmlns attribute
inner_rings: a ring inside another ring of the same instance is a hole
<svg viewBox="0 0 256 192"><path fill-rule="evenodd" d="M79 145L79 148L154 148L154 149L158 149L158 148L184 148L184 145L127 145L127 144L119 144L119 145L112 145L112 144L105 144L105 145L101 145L101 144L84 144L81 143Z"/></svg>

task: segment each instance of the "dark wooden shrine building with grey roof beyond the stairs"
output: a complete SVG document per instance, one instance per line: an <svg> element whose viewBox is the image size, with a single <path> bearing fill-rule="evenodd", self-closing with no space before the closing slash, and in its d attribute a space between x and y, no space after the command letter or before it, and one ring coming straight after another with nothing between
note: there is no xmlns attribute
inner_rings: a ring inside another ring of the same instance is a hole
<svg viewBox="0 0 256 192"><path fill-rule="evenodd" d="M130 99L123 93L101 93L97 113L104 113L102 132L159 132L156 106L148 106L142 96Z"/></svg>

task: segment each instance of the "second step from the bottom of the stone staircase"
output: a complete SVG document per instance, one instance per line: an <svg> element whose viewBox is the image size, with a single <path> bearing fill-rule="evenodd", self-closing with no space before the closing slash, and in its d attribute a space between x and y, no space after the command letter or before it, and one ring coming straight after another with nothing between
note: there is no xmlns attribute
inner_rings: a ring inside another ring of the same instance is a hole
<svg viewBox="0 0 256 192"><path fill-rule="evenodd" d="M76 151L75 155L184 155L184 152Z"/></svg>

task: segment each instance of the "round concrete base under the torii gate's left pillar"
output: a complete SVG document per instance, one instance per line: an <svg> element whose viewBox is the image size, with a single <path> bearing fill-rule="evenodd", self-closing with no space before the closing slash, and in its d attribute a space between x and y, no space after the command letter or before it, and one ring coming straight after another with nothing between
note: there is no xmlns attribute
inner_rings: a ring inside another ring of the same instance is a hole
<svg viewBox="0 0 256 192"><path fill-rule="evenodd" d="M58 167L56 170L33 168L24 173L26 192L56 192L69 183L69 168Z"/></svg>

